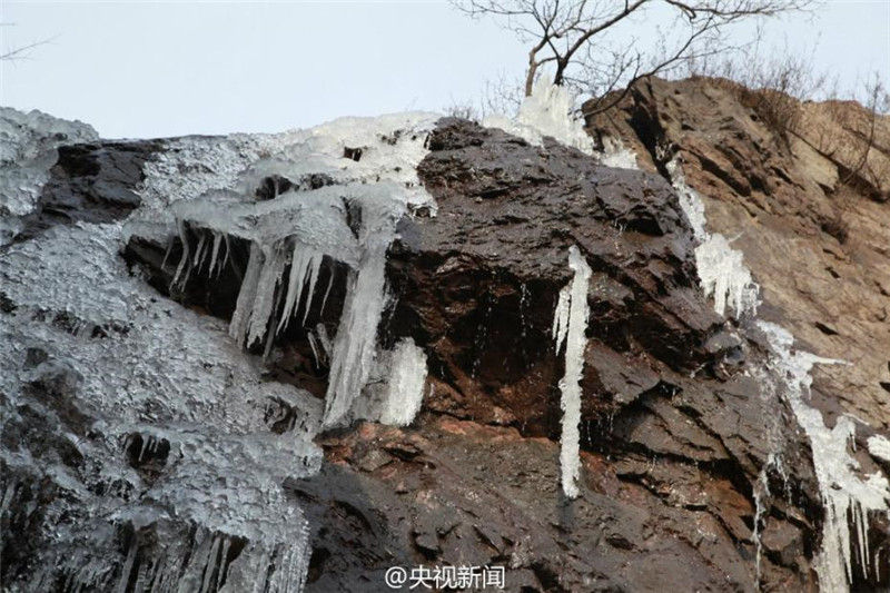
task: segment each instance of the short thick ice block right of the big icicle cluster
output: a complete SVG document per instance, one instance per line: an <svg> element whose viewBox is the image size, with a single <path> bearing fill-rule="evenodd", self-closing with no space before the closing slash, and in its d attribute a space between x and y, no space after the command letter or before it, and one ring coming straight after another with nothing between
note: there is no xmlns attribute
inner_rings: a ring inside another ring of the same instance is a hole
<svg viewBox="0 0 890 593"><path fill-rule="evenodd" d="M414 422L423 404L424 383L426 354L412 338L403 338L393 350L380 422L396 426Z"/></svg>

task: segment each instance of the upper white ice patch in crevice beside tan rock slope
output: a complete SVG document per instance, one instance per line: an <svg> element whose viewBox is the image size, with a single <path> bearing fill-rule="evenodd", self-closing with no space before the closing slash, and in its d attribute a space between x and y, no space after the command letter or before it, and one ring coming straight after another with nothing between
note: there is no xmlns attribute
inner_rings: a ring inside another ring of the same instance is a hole
<svg viewBox="0 0 890 593"><path fill-rule="evenodd" d="M735 318L756 315L760 287L745 267L742 253L733 249L722 235L705 230L704 204L699 194L686 185L676 160L668 164L668 171L680 207L699 241L695 266L704 296L714 299L718 315L724 315L730 308Z"/></svg>

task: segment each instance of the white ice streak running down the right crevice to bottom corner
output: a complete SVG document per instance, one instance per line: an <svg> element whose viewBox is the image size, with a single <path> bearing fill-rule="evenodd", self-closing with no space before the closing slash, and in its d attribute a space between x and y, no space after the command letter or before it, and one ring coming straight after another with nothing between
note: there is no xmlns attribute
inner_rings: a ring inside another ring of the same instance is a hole
<svg viewBox="0 0 890 593"><path fill-rule="evenodd" d="M811 407L805 396L810 392L810 372L815 364L843 364L841 360L823 358L793 348L793 336L782 327L758 320L756 306L759 287L743 261L741 251L732 249L725 237L710 234L705 229L704 205L698 192L690 188L676 160L668 164L668 171L676 189L680 206L700 241L695 249L696 266L705 296L713 296L714 310L723 314L731 307L736 317L749 314L753 325L762 330L769 340L771 356L762 373L768 394L784 398L798 424L803 428L812 449L825 517L822 524L822 548L815 561L822 591L843 592L853 580L853 552L851 531L856 535L856 546L860 565L858 570L868 574L871 554L868 548L869 513L887 513L890 508L890 482L880 474L861 475L859 462L850 455L848 447L853 443L856 425L850 416L838 417L834 427L829 428L822 413ZM869 452L882 458L890 456L890 442L881 436L869 441ZM778 465L774 454L761 471L754 488L756 516L754 540L758 546L758 576L760 576L760 517L765 513L765 498L770 496L767 471Z"/></svg>

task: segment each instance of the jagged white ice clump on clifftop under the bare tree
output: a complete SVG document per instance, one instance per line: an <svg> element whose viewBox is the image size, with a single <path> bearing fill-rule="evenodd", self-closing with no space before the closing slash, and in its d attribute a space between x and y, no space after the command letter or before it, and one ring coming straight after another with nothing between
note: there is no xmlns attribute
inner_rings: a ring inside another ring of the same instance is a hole
<svg viewBox="0 0 890 593"><path fill-rule="evenodd" d="M501 128L518 136L534 146L541 146L548 136L557 142L593 155L593 140L584 130L584 121L572 117L575 98L565 87L554 85L550 78L541 77L520 106L515 119L496 115L485 118L483 126Z"/></svg>

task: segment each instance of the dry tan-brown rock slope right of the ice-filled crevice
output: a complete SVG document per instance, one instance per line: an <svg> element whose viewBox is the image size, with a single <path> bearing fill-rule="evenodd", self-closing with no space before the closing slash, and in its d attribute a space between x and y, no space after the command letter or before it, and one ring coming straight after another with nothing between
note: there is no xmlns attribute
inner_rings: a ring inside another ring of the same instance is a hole
<svg viewBox="0 0 890 593"><path fill-rule="evenodd" d="M620 136L643 168L679 157L709 227L734 238L762 286L763 316L811 352L852 363L815 372L820 407L887 429L890 117L878 117L867 151L871 120L859 105L795 103L783 138L733 89L652 80L589 125Z"/></svg>

